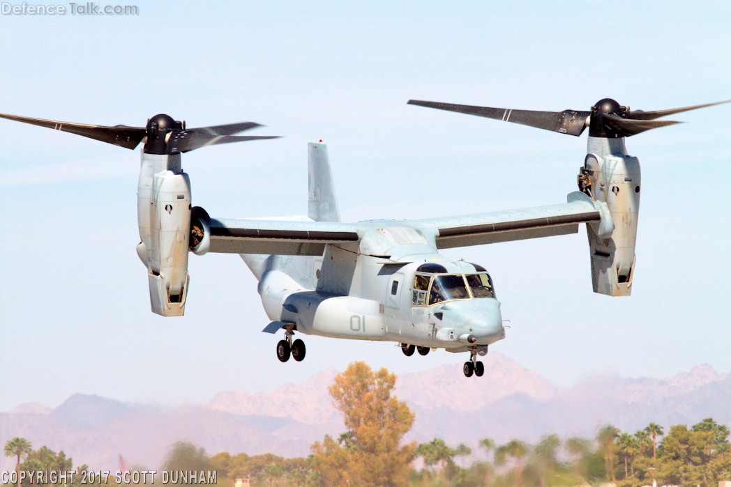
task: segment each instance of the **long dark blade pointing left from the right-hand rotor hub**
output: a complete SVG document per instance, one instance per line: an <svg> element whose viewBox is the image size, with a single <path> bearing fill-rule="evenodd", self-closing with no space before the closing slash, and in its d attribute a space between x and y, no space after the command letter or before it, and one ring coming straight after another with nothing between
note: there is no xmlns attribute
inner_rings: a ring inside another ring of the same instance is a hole
<svg viewBox="0 0 731 487"><path fill-rule="evenodd" d="M450 112L466 113L478 117L493 118L504 122L520 123L537 129L550 130L560 134L579 136L586 128L591 112L564 110L563 112L536 112L533 110L512 110L510 108L475 107L440 103L438 101L409 100L409 104L436 108Z"/></svg>

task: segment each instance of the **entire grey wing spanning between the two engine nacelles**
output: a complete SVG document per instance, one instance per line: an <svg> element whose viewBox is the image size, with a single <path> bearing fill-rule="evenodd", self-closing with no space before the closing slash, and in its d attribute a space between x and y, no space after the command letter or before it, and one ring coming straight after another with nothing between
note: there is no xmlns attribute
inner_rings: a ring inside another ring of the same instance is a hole
<svg viewBox="0 0 731 487"><path fill-rule="evenodd" d="M379 229L385 223L418 229L426 237L433 237L436 248L575 234L579 223L596 223L602 237L612 233L614 225L605 203L593 201L580 192L570 193L567 199L567 203L553 206L403 222L340 223L312 221L310 218L210 218L206 214L205 218L198 220L205 221L202 224L205 226L203 234L208 239L202 245L205 250L194 247L193 251L201 254L213 252L322 256L325 245L359 242L368 231Z"/></svg>

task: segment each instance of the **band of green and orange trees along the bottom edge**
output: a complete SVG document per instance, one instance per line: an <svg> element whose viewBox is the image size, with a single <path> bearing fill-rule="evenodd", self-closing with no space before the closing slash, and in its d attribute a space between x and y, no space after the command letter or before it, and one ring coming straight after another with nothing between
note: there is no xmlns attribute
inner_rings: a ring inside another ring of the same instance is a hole
<svg viewBox="0 0 731 487"><path fill-rule="evenodd" d="M373 372L363 363L352 364L336 377L330 393L344 414L348 431L337 440L327 435L322 442L315 442L313 454L307 458L227 452L209 458L202 448L178 442L162 469L213 469L218 484L229 487L239 478L248 479L251 487L549 487L612 481L617 487L640 487L651 485L653 480L658 485L716 487L719 480L731 480L729 428L712 418L691 428L670 426L667 432L656 423L635 434L604 426L594 440L569 437L562 441L556 434L548 434L535 445L517 439L496 445L485 438L477 444L480 451L474 453L483 459L465 466L459 458L471 455L472 450L463 444L452 448L433 438L418 446L401 445L414 415L391 396L394 385L394 375L385 369ZM32 450L30 442L20 437L6 442L4 453L15 457L23 470L72 469L72 459L63 451L56 453L46 446ZM423 462L421 470L412 465L417 459ZM77 472L87 469L84 464ZM31 483L26 480L24 485ZM115 483L111 479L96 485L114 487Z"/></svg>

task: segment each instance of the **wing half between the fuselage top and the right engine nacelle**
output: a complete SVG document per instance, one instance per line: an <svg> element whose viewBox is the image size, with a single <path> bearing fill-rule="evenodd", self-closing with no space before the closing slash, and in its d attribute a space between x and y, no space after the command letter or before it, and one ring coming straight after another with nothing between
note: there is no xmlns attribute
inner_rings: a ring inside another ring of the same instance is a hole
<svg viewBox="0 0 731 487"><path fill-rule="evenodd" d="M611 234L614 226L606 204L594 202L578 191L569 193L567 199L567 203L553 206L431 218L410 224L433 234L437 248L575 234L579 223L591 222L599 224L600 234Z"/></svg>

